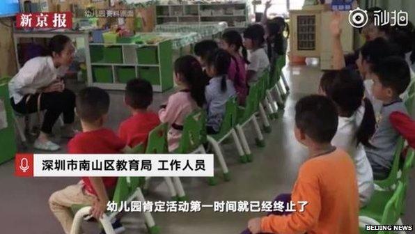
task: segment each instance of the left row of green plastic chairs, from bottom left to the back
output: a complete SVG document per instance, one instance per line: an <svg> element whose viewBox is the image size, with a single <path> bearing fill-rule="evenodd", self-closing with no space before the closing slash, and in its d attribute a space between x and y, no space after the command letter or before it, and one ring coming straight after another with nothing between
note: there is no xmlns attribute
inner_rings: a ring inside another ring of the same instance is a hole
<svg viewBox="0 0 415 234"><path fill-rule="evenodd" d="M253 160L251 149L249 148L248 141L244 134L243 127L247 123L253 124L253 129L256 132L256 145L260 147L265 146L265 140L263 133L261 132L260 125L257 120L257 116L260 117L263 123L264 132L271 132L269 120L276 118L276 112L278 109L272 109L272 103L274 98L272 91L276 91L277 100L279 100L279 106L283 107L283 100L288 94L288 88L285 88L286 81L283 81L281 72L283 64L285 64L285 58L281 56L281 59L276 61L276 69L274 69L274 75L269 76L269 72L265 71L256 84L253 84L249 88L249 95L246 97L246 105L244 107L238 106L236 98L230 98L226 102L226 112L224 120L221 124L221 128L217 134L208 135L206 133L206 114L204 110L198 110L187 116L183 123L182 137L179 142L178 148L174 153L206 153L205 145L209 143L212 146L214 155L219 161L222 175L225 181L230 180L230 173L226 160L221 151L220 143L225 139L232 136L237 148L237 153L240 157L240 162L246 163ZM288 87L288 85L287 85ZM281 103L280 103L281 102ZM265 106L265 108L264 108ZM265 109L267 114L265 114ZM273 112L274 111L274 112ZM159 125L148 135L147 146L139 144L135 146L129 153L169 153L167 148L166 135L168 126L164 123ZM183 189L180 178L165 177L166 185L171 192L173 200L187 201L188 197ZM217 185L217 176L208 178L208 185ZM120 204L121 201L133 201L138 199L139 201L146 201L144 194L148 192L150 185L150 178L134 178L134 177L120 177L116 185L115 192L111 201ZM77 205L72 207L72 211L75 214L74 222L72 225L71 234L79 233L79 228L84 217L88 215L91 207L79 207ZM100 224L107 234L113 234L113 228L111 226L111 219L114 219L118 215L117 212L104 214L100 219ZM150 212L143 212L146 220L146 226L150 234L159 233L159 227L155 224L154 219Z"/></svg>

